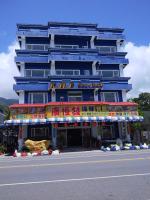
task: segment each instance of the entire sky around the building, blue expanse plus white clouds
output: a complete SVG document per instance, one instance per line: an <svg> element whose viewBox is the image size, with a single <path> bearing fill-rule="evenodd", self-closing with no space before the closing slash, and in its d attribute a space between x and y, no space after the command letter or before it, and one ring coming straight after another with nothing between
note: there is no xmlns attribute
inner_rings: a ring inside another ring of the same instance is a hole
<svg viewBox="0 0 150 200"><path fill-rule="evenodd" d="M128 97L150 92L150 0L0 0L0 96L16 98L13 76L17 23L48 21L97 23L125 29L133 90Z"/></svg>

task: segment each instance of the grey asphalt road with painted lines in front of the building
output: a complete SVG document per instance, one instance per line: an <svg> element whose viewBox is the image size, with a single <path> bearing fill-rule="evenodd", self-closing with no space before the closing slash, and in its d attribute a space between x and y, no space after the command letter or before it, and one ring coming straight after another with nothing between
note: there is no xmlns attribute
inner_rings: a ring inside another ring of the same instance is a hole
<svg viewBox="0 0 150 200"><path fill-rule="evenodd" d="M150 150L0 158L0 200L150 200Z"/></svg>

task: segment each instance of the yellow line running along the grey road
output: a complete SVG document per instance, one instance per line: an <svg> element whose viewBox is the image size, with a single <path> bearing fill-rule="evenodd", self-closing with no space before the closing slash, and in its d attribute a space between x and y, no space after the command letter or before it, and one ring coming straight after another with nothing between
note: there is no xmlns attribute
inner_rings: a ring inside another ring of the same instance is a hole
<svg viewBox="0 0 150 200"><path fill-rule="evenodd" d="M92 161L77 161L77 162L62 162L62 163L44 163L44 164L28 164L28 165L5 165L0 166L0 169L12 169L12 168L27 168L27 167L49 167L49 166L62 166L62 165L79 165L79 164L99 164L109 162L124 162L124 161L137 161L137 160L149 160L150 157L141 158L123 158L112 160L92 160Z"/></svg>

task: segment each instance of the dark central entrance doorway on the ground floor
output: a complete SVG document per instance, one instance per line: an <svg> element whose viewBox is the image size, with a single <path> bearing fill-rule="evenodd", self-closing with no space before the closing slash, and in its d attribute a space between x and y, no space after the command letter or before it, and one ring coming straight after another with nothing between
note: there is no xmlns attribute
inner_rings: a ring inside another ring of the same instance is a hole
<svg viewBox="0 0 150 200"><path fill-rule="evenodd" d="M68 147L82 146L82 129L67 130Z"/></svg>

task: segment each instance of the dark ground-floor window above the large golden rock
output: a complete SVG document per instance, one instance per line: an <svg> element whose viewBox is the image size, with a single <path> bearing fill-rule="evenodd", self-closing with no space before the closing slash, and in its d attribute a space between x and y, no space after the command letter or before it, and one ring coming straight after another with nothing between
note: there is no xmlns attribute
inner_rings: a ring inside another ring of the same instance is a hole
<svg viewBox="0 0 150 200"><path fill-rule="evenodd" d="M49 137L49 128L48 127L41 127L41 128L31 128L31 137Z"/></svg>

